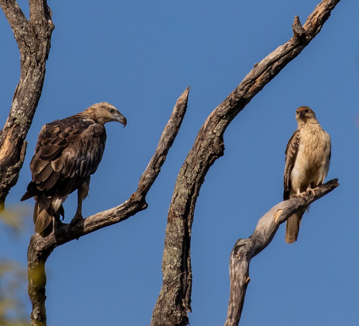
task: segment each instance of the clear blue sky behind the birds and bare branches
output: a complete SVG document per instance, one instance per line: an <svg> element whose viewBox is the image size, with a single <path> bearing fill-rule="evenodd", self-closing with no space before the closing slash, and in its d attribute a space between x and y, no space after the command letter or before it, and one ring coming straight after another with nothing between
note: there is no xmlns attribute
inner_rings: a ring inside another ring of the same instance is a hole
<svg viewBox="0 0 359 326"><path fill-rule="evenodd" d="M149 325L162 285L167 212L177 173L206 117L253 65L292 37L319 0L48 1L55 30L27 157L7 205L19 203L41 126L107 101L127 118L108 123L107 144L91 178L83 215L125 201L136 190L174 103L191 86L188 109L148 209L56 248L47 268L50 326ZM28 4L19 1L28 15ZM332 138L327 180L341 185L305 214L298 241L284 225L250 266L240 325L356 325L358 312L359 43L356 1L341 1L322 31L239 113L210 168L192 229L190 323L222 325L229 298L229 255L258 219L282 200L285 146L306 105ZM19 80L19 51L0 15L0 122ZM1 125L1 126L2 126ZM21 236L0 227L0 257L26 267L33 201ZM65 203L65 222L76 195ZM31 303L27 301L27 312Z"/></svg>

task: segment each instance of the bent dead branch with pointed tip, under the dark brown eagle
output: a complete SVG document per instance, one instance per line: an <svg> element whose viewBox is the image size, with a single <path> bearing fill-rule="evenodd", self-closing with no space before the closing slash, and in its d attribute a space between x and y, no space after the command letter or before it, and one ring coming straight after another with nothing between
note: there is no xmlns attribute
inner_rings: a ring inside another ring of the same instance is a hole
<svg viewBox="0 0 359 326"><path fill-rule="evenodd" d="M61 244L78 239L85 234L94 232L108 225L126 220L130 216L148 207L146 194L156 180L166 159L168 150L172 146L177 132L180 129L187 109L189 91L190 88L188 87L180 98L178 98L172 115L162 132L157 149L139 180L137 190L128 200L115 208L78 221L71 225L71 227L70 224L59 222L54 226L54 231L45 238L39 234L31 237L28 247L28 292L33 307L31 313L32 325L46 325L45 262L51 252Z"/></svg>

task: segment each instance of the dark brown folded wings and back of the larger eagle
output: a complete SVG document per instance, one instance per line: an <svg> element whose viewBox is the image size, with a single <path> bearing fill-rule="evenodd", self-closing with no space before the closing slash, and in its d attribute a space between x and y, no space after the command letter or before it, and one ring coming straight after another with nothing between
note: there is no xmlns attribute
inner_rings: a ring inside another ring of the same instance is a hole
<svg viewBox="0 0 359 326"><path fill-rule="evenodd" d="M81 117L71 116L43 126L30 163L32 182L21 200L40 191L50 197L76 190L96 171L105 142L104 126Z"/></svg>

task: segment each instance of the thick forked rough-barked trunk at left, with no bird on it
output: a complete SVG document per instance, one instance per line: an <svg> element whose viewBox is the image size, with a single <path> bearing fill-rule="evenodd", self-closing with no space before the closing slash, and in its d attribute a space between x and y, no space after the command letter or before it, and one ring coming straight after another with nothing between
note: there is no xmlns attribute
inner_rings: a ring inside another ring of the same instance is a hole
<svg viewBox="0 0 359 326"><path fill-rule="evenodd" d="M1 8L14 32L20 50L20 81L11 104L9 117L0 131L0 211L6 196L19 177L27 141L45 79L45 63L55 26L46 0L30 0L27 20L14 0L0 0Z"/></svg>

